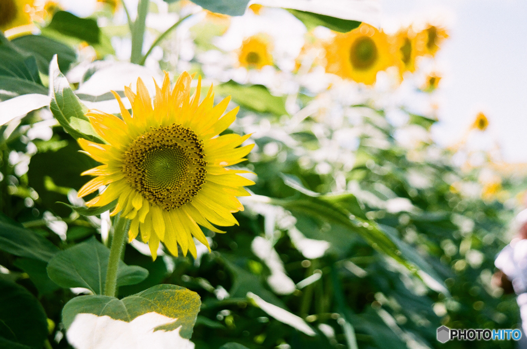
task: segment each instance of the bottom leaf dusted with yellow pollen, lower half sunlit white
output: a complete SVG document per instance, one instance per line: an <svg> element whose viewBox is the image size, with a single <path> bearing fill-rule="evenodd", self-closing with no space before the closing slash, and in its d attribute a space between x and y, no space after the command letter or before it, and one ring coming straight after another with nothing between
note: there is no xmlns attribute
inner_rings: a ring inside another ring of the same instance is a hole
<svg viewBox="0 0 527 349"><path fill-rule="evenodd" d="M146 332L152 331L151 328L157 335L166 335L167 338L173 339L175 342L171 342L171 348L186 347L183 344L188 341L184 338L191 337L200 306L200 297L196 292L181 286L163 284L124 297L122 300L109 296L75 297L64 306L62 321L68 330L67 337L70 342L89 340L86 336L90 334L119 337L119 333L110 330L90 331L92 326L97 325L97 321L104 321L108 325L106 328L120 323L118 330L140 341L135 343L140 347L150 347L148 344L151 343L144 342L148 341L149 334ZM110 318L103 320L103 316ZM135 321L136 319L138 320ZM140 328L134 325L138 322L142 324ZM143 328L144 334L141 332ZM101 337L100 340L104 338Z"/></svg>

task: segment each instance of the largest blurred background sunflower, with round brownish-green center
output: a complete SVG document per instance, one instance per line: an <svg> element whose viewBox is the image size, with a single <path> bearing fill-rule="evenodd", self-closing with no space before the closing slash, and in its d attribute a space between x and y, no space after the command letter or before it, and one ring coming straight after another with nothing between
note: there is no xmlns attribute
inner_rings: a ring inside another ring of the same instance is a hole
<svg viewBox="0 0 527 349"><path fill-rule="evenodd" d="M336 34L326 44L326 72L373 85L377 72L393 63L388 38L368 24Z"/></svg>

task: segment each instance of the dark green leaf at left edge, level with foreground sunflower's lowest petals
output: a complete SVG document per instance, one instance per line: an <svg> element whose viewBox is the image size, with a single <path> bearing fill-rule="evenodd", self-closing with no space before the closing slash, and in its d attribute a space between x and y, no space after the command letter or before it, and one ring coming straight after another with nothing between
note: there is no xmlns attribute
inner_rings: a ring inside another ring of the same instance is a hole
<svg viewBox="0 0 527 349"><path fill-rule="evenodd" d="M60 251L46 238L5 222L0 222L0 250L46 263Z"/></svg>

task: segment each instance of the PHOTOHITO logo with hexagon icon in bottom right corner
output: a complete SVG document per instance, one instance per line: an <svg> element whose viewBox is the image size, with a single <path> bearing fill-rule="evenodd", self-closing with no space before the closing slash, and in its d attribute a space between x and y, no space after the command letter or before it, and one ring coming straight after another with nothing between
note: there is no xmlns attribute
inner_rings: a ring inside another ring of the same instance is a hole
<svg viewBox="0 0 527 349"><path fill-rule="evenodd" d="M451 330L446 326L437 328L437 340L446 343L452 340L458 341L518 341L522 337L520 330L489 330L488 328L469 328L468 330Z"/></svg>

